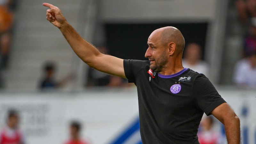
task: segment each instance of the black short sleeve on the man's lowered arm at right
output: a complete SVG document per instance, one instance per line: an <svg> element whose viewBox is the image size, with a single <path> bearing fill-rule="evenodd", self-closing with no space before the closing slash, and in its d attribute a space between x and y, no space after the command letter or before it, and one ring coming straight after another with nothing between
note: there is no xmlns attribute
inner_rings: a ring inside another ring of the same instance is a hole
<svg viewBox="0 0 256 144"><path fill-rule="evenodd" d="M197 106L209 116L214 108L226 102L221 98L210 80L203 74L196 77L193 86Z"/></svg>

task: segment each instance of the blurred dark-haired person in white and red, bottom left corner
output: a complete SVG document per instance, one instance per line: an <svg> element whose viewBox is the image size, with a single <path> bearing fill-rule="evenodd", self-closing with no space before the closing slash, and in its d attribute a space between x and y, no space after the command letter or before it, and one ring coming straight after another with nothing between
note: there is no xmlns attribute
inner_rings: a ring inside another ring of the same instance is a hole
<svg viewBox="0 0 256 144"><path fill-rule="evenodd" d="M24 135L19 130L18 124L18 112L9 110L7 125L0 132L0 144L25 144Z"/></svg>

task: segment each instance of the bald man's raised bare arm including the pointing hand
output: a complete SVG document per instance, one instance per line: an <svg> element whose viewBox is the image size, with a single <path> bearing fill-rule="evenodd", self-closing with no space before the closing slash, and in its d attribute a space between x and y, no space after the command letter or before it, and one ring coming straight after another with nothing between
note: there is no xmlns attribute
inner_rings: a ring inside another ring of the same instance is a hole
<svg viewBox="0 0 256 144"><path fill-rule="evenodd" d="M90 67L102 72L125 77L123 59L100 53L76 32L58 7L48 3L43 5L50 8L46 11L46 19L60 29L73 51L81 60Z"/></svg>

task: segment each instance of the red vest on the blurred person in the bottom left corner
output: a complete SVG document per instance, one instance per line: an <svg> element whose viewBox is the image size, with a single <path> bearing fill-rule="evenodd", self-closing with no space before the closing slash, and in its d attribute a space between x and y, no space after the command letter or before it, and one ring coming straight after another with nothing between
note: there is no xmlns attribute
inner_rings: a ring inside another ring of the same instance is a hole
<svg viewBox="0 0 256 144"><path fill-rule="evenodd" d="M21 144L21 134L19 131L15 132L14 137L8 137L6 131L1 132L1 143L0 144Z"/></svg>

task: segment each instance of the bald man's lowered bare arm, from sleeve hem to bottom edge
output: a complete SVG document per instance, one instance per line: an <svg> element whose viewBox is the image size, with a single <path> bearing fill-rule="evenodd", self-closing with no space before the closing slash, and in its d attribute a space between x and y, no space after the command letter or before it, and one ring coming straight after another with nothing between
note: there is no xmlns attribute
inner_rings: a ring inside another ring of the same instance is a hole
<svg viewBox="0 0 256 144"><path fill-rule="evenodd" d="M229 144L240 144L240 120L227 103L213 109L212 115L224 124Z"/></svg>

